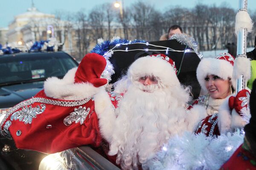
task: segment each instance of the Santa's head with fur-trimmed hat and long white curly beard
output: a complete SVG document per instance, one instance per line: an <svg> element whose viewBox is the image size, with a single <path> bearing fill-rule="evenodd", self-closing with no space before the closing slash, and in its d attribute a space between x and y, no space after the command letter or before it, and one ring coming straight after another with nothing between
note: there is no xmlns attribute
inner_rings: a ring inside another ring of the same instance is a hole
<svg viewBox="0 0 256 170"><path fill-rule="evenodd" d="M137 168L163 147L171 136L187 129L184 89L175 64L163 54L137 59L115 84L117 118L109 139L109 155L122 169Z"/></svg>

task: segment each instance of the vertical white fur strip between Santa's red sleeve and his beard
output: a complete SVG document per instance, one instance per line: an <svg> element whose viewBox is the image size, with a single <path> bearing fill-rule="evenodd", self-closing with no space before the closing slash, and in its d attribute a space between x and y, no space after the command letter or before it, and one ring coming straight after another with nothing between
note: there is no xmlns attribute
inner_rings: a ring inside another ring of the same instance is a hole
<svg viewBox="0 0 256 170"><path fill-rule="evenodd" d="M101 89L94 96L95 111L99 118L100 132L104 139L111 142L116 116L108 93Z"/></svg>

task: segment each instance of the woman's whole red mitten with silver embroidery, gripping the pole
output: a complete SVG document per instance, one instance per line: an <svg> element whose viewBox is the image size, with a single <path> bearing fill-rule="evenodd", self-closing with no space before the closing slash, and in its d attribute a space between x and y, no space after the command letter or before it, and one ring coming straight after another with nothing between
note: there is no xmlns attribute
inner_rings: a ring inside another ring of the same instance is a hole
<svg viewBox="0 0 256 170"><path fill-rule="evenodd" d="M230 96L228 105L230 109L233 108L236 110L237 113L241 115L241 108L247 107L248 103L250 101L250 92L246 89L243 89L238 92L236 96Z"/></svg>

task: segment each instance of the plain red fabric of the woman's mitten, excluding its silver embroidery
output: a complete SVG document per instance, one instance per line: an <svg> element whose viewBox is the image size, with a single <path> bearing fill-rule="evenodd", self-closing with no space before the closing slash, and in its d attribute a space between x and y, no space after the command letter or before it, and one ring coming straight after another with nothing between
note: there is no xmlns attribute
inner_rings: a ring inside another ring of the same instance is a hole
<svg viewBox="0 0 256 170"><path fill-rule="evenodd" d="M250 92L248 90L243 89L243 90L239 91L235 97L230 96L229 101L228 101L228 105L229 105L230 109L232 110L234 108L236 110L236 112L239 113L240 115L241 115L241 112L240 112L241 108L247 107L247 104L242 106L241 104L242 104L243 100L240 100L239 98L247 97L246 92L250 94Z"/></svg>

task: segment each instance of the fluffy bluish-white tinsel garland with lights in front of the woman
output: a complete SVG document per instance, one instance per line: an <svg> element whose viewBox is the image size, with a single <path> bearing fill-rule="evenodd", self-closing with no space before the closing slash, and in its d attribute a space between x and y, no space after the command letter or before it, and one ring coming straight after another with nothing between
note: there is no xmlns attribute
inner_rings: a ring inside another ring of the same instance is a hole
<svg viewBox="0 0 256 170"><path fill-rule="evenodd" d="M143 164L150 170L218 170L243 142L244 134L207 137L185 132L175 136L157 155Z"/></svg>

